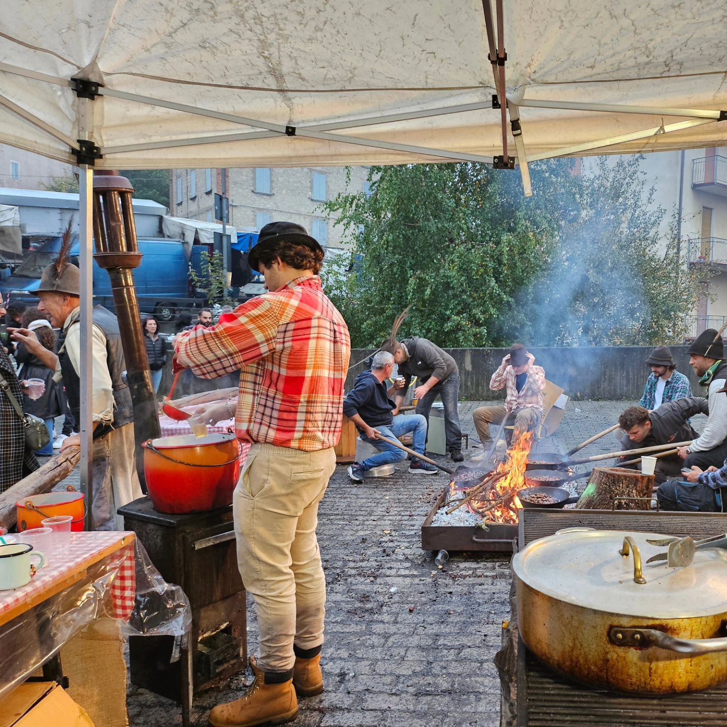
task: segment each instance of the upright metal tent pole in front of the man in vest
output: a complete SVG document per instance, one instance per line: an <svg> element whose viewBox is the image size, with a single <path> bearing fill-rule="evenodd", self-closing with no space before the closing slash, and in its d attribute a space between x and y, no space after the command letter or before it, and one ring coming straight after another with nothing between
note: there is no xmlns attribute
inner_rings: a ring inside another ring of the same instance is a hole
<svg viewBox="0 0 727 727"><path fill-rule="evenodd" d="M92 529L93 508L93 170L79 166L79 267L81 268L81 421L76 422L81 437L81 491L86 497L86 529Z"/></svg>

